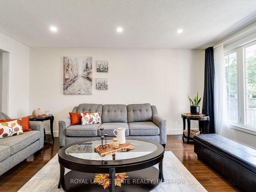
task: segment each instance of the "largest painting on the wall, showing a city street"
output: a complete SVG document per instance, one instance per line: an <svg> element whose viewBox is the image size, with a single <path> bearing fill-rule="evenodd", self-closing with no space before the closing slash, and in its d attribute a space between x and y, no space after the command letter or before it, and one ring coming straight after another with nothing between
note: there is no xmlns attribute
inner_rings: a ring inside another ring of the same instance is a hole
<svg viewBox="0 0 256 192"><path fill-rule="evenodd" d="M92 94L92 57L63 58L63 93Z"/></svg>

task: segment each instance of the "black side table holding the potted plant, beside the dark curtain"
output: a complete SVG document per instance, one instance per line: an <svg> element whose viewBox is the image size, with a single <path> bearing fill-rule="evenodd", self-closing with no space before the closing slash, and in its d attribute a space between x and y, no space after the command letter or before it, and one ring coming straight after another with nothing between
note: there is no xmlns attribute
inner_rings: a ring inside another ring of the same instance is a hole
<svg viewBox="0 0 256 192"><path fill-rule="evenodd" d="M189 143L189 139L193 140L194 138L190 138L190 120L195 120L198 121L199 124L199 131L200 133L205 133L205 121L207 121L207 125L209 124L210 118L209 116L195 116L195 115L190 115L187 113L181 114L181 118L183 119L183 130L186 129L186 120L187 120L187 137L184 135L182 135L182 139L184 140L184 138L187 138L187 144Z"/></svg>

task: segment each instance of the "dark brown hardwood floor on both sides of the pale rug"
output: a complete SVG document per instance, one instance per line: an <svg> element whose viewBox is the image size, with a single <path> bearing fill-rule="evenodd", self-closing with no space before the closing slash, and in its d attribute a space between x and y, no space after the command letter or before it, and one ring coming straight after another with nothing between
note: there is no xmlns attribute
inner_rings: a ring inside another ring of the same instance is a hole
<svg viewBox="0 0 256 192"><path fill-rule="evenodd" d="M31 156L0 176L0 191L17 191L30 180L38 170L47 164L50 159L58 153L58 150L58 138L55 139L54 143L51 140L45 143L41 156ZM180 135L168 135L165 150L172 151L206 190L218 192L239 191L239 189L228 183L217 172L198 160L197 155L194 153L193 143L189 145L183 143Z"/></svg>

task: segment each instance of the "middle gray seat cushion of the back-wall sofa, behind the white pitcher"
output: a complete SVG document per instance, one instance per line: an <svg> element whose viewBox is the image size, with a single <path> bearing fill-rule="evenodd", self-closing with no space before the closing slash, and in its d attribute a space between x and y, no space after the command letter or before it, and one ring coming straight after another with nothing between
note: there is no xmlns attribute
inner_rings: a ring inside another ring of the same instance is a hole
<svg viewBox="0 0 256 192"><path fill-rule="evenodd" d="M125 136L129 135L129 126L127 123L115 122L115 123L102 123L100 127L103 127L103 134L108 134L108 136L115 136L113 131L118 127L125 128ZM99 127L99 129L100 129ZM98 136L101 136L101 131L98 129Z"/></svg>

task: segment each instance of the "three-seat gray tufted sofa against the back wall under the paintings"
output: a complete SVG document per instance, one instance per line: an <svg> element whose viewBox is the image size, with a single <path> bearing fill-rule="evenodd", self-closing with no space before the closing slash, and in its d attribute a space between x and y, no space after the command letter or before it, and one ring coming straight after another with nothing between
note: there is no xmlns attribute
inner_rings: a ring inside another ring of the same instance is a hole
<svg viewBox="0 0 256 192"><path fill-rule="evenodd" d="M102 124L70 125L70 118L59 121L59 146L77 141L99 139L100 127L104 134L114 137L113 130L125 127L126 138L141 138L166 144L166 120L157 113L157 108L145 104L79 104L73 113L100 112Z"/></svg>

